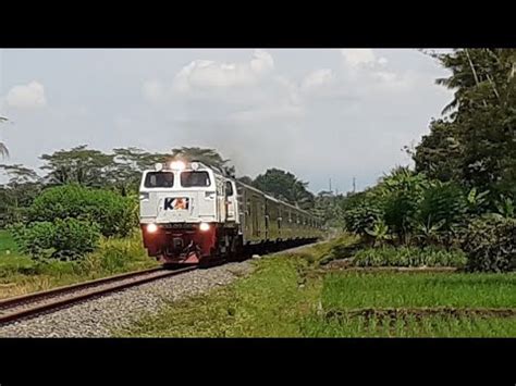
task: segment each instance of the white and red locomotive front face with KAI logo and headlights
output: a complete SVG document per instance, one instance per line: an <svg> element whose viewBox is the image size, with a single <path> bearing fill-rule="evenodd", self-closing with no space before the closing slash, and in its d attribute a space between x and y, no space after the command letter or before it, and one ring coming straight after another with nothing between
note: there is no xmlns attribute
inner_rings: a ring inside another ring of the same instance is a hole
<svg viewBox="0 0 516 386"><path fill-rule="evenodd" d="M144 246L162 263L199 263L217 247L217 184L198 162L157 164L143 174L139 214Z"/></svg>

